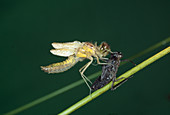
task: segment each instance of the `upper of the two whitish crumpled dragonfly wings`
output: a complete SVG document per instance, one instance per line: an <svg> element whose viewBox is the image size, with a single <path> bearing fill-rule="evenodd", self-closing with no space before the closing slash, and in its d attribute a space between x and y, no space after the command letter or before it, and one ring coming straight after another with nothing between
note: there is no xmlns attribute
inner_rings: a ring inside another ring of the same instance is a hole
<svg viewBox="0 0 170 115"><path fill-rule="evenodd" d="M81 46L81 42L79 41L74 41L74 42L66 42L66 43L52 43L52 46L55 49L61 49L61 48L65 48L65 49L76 49L79 48Z"/></svg>

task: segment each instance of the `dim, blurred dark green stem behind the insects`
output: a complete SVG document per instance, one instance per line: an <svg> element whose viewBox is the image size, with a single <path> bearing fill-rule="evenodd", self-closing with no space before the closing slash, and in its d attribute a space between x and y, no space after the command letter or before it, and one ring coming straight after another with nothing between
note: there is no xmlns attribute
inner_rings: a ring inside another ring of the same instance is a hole
<svg viewBox="0 0 170 115"><path fill-rule="evenodd" d="M167 44L169 42L170 42L170 37L168 37L168 38L164 39L163 41L161 41L161 42L159 42L159 43L145 49L144 51L132 56L129 59L130 60L135 59L135 58L137 58L139 56L142 56L142 55L144 55L144 54L146 54L148 52L151 52L151 51L155 50L156 48L158 48L158 47L160 47L162 45L165 45L165 44ZM123 65L125 63L121 63L121 65ZM100 74L101 74L101 71L90 75L88 78L91 80L91 79L94 79L95 77L99 76ZM26 110L28 108L31 108L31 107L33 107L33 106L35 106L37 104L40 104L40 103L42 103L42 102L44 102L44 101L46 101L48 99L51 99L51 98L53 98L53 97L55 97L55 96L57 96L59 94L62 94L62 93L66 92L66 91L68 91L68 90L70 90L70 89L72 89L74 87L77 87L77 86L79 86L79 85L81 85L83 83L84 83L84 81L82 79L79 80L79 81L76 81L76 82L74 82L74 83L72 83L70 85L67 85L67 86L65 86L65 87L63 87L63 88L61 88L59 90L56 90L56 91L54 91L54 92L52 92L52 93L50 93L48 95L45 95L45 96L43 96L43 97L41 97L39 99L36 99L36 100L34 100L34 101L32 101L32 102L30 102L28 104L25 104L25 105L23 105L23 106L21 106L21 107L19 107L17 109L14 109L14 110L12 110L12 111L10 111L8 113L5 113L5 115L11 115L11 114L14 115L14 114L17 114L19 112L22 112L22 111L24 111L24 110Z"/></svg>

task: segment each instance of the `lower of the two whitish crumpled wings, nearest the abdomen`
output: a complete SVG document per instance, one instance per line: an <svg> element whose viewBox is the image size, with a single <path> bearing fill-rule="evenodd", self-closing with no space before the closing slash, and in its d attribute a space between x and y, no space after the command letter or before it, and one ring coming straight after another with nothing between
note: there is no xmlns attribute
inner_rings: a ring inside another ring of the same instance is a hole
<svg viewBox="0 0 170 115"><path fill-rule="evenodd" d="M50 52L53 55L58 55L58 56L63 56L63 57L68 57L70 55L73 55L75 53L74 49L52 49Z"/></svg>

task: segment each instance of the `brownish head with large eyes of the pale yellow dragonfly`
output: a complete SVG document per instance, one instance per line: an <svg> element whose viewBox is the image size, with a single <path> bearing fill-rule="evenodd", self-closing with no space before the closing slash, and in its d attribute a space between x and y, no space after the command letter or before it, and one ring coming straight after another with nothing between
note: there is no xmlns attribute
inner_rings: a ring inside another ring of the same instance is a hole
<svg viewBox="0 0 170 115"><path fill-rule="evenodd" d="M110 46L106 42L102 42L100 46L98 46L98 51L101 57L105 57L110 52Z"/></svg>

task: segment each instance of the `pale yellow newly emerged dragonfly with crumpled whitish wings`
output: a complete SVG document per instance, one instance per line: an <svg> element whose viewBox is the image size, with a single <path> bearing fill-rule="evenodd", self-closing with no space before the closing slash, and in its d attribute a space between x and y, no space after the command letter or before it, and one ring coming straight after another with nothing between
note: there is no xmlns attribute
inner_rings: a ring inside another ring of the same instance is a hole
<svg viewBox="0 0 170 115"><path fill-rule="evenodd" d="M111 52L110 46L106 42L102 42L98 46L97 42L92 44L90 42L80 41L66 43L54 42L52 43L52 46L55 48L50 50L53 55L68 58L63 62L53 63L48 66L41 66L41 69L47 73L61 73L72 68L77 62L89 59L90 61L80 68L79 72L91 91L90 85L87 81L91 84L92 82L84 75L84 72L92 64L94 58L97 60L97 64L106 64L101 63L99 60L107 59L105 57L109 54L109 52Z"/></svg>

